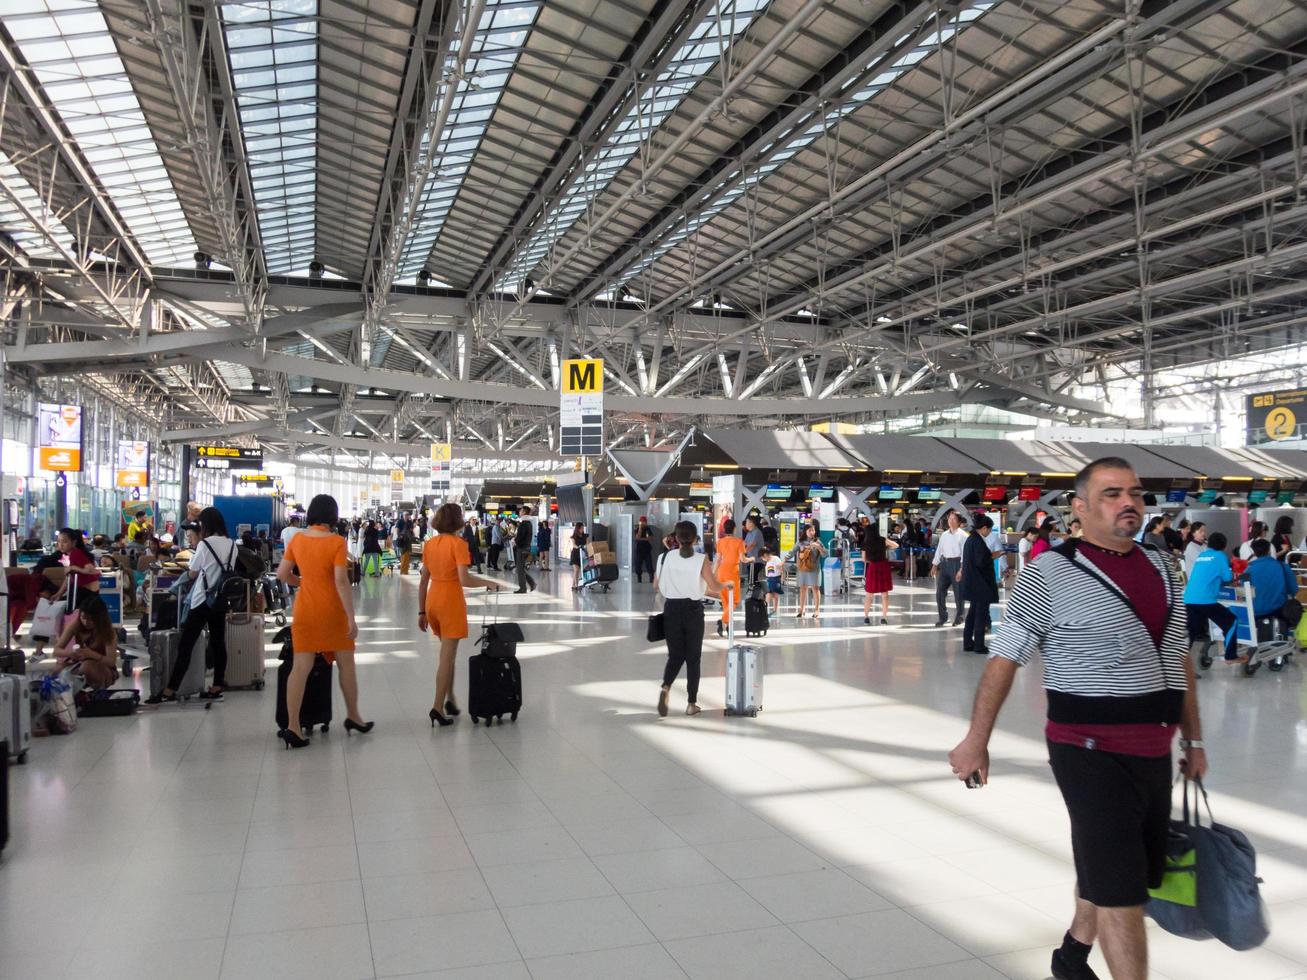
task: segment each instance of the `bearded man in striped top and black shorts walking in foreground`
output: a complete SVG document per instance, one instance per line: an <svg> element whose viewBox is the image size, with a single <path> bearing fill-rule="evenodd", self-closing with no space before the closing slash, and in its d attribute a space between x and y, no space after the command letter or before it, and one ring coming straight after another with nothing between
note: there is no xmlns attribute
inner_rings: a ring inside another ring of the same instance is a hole
<svg viewBox="0 0 1307 980"><path fill-rule="evenodd" d="M1170 557L1133 541L1144 487L1129 463L1085 466L1072 510L1084 536L1022 571L949 762L958 779L988 781L999 711L1017 669L1042 653L1048 759L1076 860L1076 915L1052 973L1097 980L1087 958L1102 938L1114 980L1145 980L1144 903L1162 879L1176 728L1185 777L1208 767L1183 592Z"/></svg>

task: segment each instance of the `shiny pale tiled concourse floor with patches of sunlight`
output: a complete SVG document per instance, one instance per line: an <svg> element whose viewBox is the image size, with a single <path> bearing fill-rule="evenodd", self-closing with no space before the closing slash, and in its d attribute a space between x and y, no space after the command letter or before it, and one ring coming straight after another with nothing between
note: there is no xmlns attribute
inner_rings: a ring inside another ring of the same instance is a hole
<svg viewBox="0 0 1307 980"><path fill-rule="evenodd" d="M1038 676L967 792L944 757L983 661L925 589L897 585L890 627L850 602L774 622L757 719L723 717L710 639L704 712L660 720L648 585L555 579L502 604L529 639L520 720L433 730L416 585L359 588L367 737L337 695L331 733L284 751L269 690L41 740L12 771L0 977L1047 976L1073 874ZM1273 932L1236 954L1151 929L1154 975L1307 977L1300 666L1200 690L1213 806L1259 847Z"/></svg>

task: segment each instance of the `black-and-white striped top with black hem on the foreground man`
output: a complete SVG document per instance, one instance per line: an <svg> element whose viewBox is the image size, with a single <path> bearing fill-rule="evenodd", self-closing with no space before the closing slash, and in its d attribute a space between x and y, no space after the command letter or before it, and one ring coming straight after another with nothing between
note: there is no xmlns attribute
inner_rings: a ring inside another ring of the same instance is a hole
<svg viewBox="0 0 1307 980"><path fill-rule="evenodd" d="M1188 629L1180 583L1165 554L1144 553L1166 585L1166 627L1154 643L1133 598L1069 541L1030 563L1008 601L989 656L1043 655L1048 719L1065 724L1176 724L1187 690Z"/></svg>

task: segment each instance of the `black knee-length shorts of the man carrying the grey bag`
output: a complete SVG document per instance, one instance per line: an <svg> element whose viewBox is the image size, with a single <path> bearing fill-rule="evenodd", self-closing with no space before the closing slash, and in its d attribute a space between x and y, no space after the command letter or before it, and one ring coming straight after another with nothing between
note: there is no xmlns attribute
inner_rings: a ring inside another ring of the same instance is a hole
<svg viewBox="0 0 1307 980"><path fill-rule="evenodd" d="M1171 819L1171 757L1119 755L1048 742L1067 801L1080 896L1104 908L1142 906L1162 883Z"/></svg>

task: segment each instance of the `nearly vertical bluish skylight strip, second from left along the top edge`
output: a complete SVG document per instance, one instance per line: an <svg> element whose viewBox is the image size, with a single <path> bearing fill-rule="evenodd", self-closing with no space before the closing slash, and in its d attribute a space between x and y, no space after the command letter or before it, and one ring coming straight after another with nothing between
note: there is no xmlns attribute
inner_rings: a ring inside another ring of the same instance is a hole
<svg viewBox="0 0 1307 980"><path fill-rule="evenodd" d="M306 274L318 197L318 0L223 0L227 57L272 274Z"/></svg>

